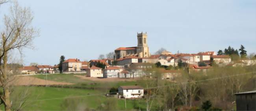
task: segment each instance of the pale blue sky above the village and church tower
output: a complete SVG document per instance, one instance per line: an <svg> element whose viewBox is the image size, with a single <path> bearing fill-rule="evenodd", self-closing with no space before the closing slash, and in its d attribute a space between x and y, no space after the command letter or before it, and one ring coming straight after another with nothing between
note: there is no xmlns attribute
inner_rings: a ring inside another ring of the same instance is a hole
<svg viewBox="0 0 256 111"><path fill-rule="evenodd" d="M33 11L40 29L34 49L24 49L24 65L59 63L59 57L97 59L118 47L137 46L147 32L154 54L239 49L256 52L256 0L18 0ZM11 3L0 6L0 18ZM3 20L0 19L0 22ZM1 25L0 25L1 26ZM2 28L0 27L0 31ZM13 53L18 55L18 53Z"/></svg>

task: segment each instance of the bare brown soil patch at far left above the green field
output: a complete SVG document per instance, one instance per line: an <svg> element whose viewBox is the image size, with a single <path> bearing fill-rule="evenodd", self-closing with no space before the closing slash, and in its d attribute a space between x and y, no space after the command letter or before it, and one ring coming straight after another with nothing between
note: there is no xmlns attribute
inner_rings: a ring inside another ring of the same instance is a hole
<svg viewBox="0 0 256 111"><path fill-rule="evenodd" d="M11 84L13 85L45 85L46 80L35 78L32 76L17 76L11 82ZM70 85L70 84L72 83L47 80L47 85Z"/></svg>

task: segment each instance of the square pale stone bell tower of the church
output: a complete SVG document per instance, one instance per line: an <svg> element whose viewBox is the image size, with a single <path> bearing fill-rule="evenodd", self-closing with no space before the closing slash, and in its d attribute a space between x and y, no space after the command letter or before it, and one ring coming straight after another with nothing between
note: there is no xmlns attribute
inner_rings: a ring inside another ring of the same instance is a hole
<svg viewBox="0 0 256 111"><path fill-rule="evenodd" d="M149 57L149 49L148 49L148 44L147 44L147 32L146 33L137 33L137 38L138 38L138 46L137 46L137 54L139 57Z"/></svg>

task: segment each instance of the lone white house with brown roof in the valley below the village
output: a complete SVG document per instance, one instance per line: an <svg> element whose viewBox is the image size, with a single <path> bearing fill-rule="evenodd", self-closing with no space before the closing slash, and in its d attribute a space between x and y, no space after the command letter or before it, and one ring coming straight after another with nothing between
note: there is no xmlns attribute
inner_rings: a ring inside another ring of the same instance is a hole
<svg viewBox="0 0 256 111"><path fill-rule="evenodd" d="M142 98L144 92L141 86L120 86L118 93L123 98Z"/></svg>

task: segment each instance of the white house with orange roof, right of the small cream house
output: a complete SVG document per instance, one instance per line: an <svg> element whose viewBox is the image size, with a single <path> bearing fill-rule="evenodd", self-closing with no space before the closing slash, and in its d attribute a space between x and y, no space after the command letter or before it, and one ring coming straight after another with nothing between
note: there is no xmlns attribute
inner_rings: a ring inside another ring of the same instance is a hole
<svg viewBox="0 0 256 111"><path fill-rule="evenodd" d="M122 71L120 67L110 66L104 69L103 77L104 78L119 78L119 73Z"/></svg>

